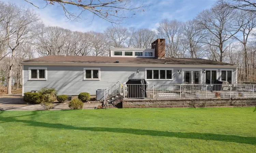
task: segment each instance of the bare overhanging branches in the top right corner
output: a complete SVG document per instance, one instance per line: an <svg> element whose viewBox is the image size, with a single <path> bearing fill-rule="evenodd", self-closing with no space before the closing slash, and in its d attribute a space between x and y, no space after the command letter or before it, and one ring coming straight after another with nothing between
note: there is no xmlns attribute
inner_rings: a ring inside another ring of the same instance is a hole
<svg viewBox="0 0 256 153"><path fill-rule="evenodd" d="M219 0L218 4L223 7L256 12L256 0Z"/></svg>

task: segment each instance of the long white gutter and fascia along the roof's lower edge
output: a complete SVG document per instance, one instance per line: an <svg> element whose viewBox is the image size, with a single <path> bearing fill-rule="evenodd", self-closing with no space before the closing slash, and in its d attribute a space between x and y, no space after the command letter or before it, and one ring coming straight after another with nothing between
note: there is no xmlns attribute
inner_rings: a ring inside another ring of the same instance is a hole
<svg viewBox="0 0 256 153"><path fill-rule="evenodd" d="M238 65L20 62L22 65L238 68Z"/></svg>

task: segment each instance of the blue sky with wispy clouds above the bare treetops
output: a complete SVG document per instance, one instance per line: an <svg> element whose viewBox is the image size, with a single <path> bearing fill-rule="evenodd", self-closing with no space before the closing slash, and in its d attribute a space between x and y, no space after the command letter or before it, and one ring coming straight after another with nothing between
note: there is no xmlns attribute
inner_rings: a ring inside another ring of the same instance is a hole
<svg viewBox="0 0 256 153"><path fill-rule="evenodd" d="M8 0L2 0L8 1ZM73 31L87 32L90 30L103 32L112 24L103 19L95 17L91 22L92 15L84 13L84 18L87 20L81 22L67 21L61 7L57 5L47 6L43 9L38 9L24 0L12 0L17 4L23 4L26 7L33 8L40 14L41 19L46 25L59 26ZM43 0L28 0L33 4L44 7ZM186 21L193 19L200 11L210 8L215 0L144 0L145 3L151 6L143 13L137 13L135 18L126 20L126 24L121 24L124 27L148 28L156 30L158 22L162 19L177 19ZM76 7L71 7L75 10Z"/></svg>

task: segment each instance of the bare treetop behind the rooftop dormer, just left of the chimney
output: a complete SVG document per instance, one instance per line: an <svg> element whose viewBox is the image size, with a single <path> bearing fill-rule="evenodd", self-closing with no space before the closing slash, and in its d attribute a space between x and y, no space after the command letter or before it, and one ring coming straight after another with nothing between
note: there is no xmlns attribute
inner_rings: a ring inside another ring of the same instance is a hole
<svg viewBox="0 0 256 153"><path fill-rule="evenodd" d="M138 30L130 29L132 48L151 48L151 43L156 39L156 32L141 28Z"/></svg>

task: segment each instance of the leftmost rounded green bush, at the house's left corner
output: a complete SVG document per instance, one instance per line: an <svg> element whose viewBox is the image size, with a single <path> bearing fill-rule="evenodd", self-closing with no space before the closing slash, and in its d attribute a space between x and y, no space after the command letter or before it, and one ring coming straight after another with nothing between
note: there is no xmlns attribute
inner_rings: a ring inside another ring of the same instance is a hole
<svg viewBox="0 0 256 153"><path fill-rule="evenodd" d="M44 102L44 96L37 92L24 93L24 100L32 104L40 104Z"/></svg>

